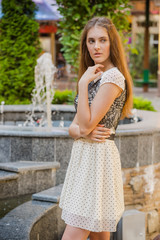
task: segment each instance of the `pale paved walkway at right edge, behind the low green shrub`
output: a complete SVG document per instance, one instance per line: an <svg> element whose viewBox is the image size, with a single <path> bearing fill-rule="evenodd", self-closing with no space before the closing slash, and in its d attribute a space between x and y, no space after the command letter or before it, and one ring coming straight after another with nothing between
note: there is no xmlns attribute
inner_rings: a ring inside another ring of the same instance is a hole
<svg viewBox="0 0 160 240"><path fill-rule="evenodd" d="M160 97L157 96L157 88L149 88L148 92L143 92L143 88L134 87L133 94L150 100L154 108L160 112Z"/></svg>

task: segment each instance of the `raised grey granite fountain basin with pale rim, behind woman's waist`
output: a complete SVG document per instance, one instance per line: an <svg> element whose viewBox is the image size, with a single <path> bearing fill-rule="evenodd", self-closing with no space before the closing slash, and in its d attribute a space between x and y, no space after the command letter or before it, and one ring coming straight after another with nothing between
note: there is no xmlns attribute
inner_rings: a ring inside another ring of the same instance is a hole
<svg viewBox="0 0 160 240"><path fill-rule="evenodd" d="M55 109L63 116L67 114L67 120L73 119L73 106L54 106ZM150 165L160 160L160 113L137 110L137 115L143 120L119 125L116 131L115 143L122 168L134 168L137 163L139 166ZM61 167L57 171L57 184L64 181L72 144L67 127L0 126L0 162L58 161Z"/></svg>

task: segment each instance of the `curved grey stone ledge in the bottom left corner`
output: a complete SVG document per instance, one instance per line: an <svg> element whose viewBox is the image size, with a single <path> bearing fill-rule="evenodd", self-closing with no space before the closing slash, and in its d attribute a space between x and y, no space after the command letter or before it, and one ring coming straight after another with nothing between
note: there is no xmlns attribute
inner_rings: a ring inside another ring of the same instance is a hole
<svg viewBox="0 0 160 240"><path fill-rule="evenodd" d="M52 223L50 222L51 219L47 219L48 214L50 214L50 218L53 219ZM60 223L58 223L59 220L57 218L59 218L59 214L57 216L57 204L29 201L13 209L0 220L0 239L35 240L37 239L37 234L34 233L34 237L30 237L30 233L34 231L35 225L39 222L38 233L40 238L45 234L44 238L42 237L41 239L58 240L57 227ZM49 227L47 227L44 232L46 224ZM49 235L54 236L50 238L48 237Z"/></svg>

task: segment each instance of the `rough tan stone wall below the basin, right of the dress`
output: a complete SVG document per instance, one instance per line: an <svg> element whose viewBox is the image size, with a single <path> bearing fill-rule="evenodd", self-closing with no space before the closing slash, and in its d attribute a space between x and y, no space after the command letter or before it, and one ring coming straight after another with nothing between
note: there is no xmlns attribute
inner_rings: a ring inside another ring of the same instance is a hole
<svg viewBox="0 0 160 240"><path fill-rule="evenodd" d="M125 208L146 213L146 240L160 233L160 163L123 168Z"/></svg>

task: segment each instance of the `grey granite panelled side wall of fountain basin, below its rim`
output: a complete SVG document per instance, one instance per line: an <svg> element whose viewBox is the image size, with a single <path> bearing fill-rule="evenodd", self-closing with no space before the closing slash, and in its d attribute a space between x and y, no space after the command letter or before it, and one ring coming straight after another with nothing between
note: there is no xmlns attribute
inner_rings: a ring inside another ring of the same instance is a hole
<svg viewBox="0 0 160 240"><path fill-rule="evenodd" d="M23 130L23 129L22 129ZM73 139L66 132L1 131L0 162L43 161L60 163L56 184L64 182L70 160ZM58 131L58 130L57 130ZM120 153L122 168L156 164L160 160L160 132L117 131L115 143Z"/></svg>

